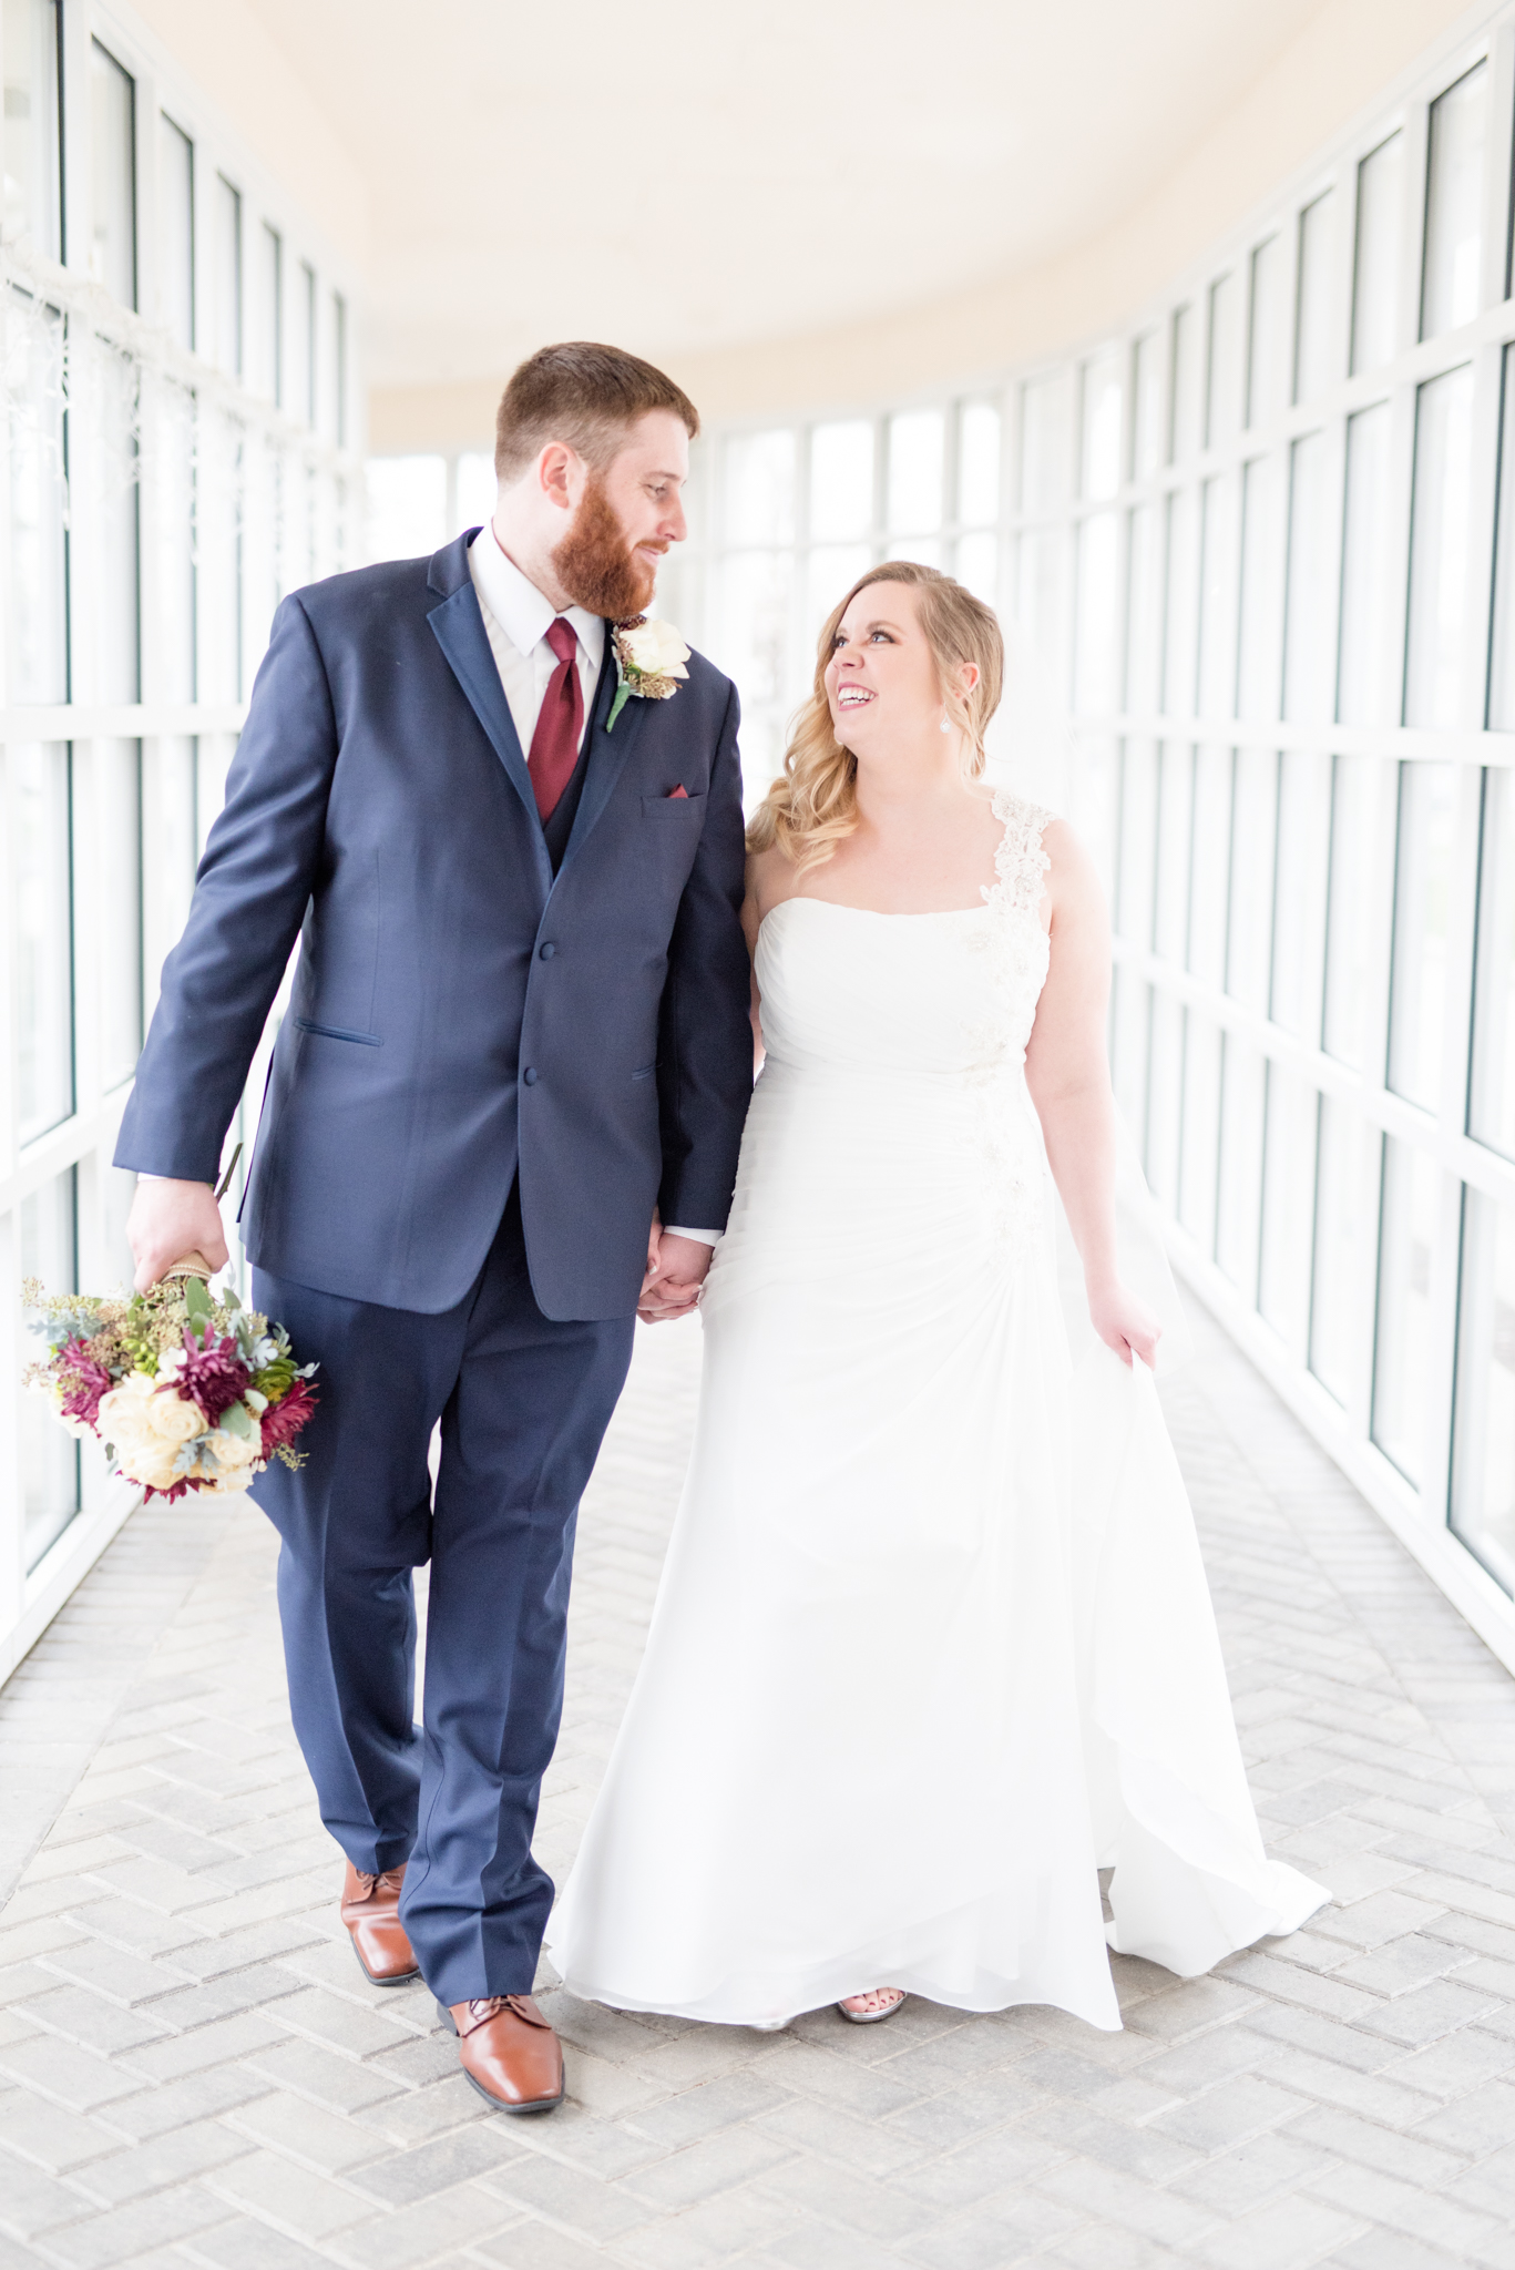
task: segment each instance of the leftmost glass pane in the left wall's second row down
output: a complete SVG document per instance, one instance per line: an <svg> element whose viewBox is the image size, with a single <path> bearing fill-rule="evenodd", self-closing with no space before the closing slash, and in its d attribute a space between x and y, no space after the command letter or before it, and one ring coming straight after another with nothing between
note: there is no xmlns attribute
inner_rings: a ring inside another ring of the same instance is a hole
<svg viewBox="0 0 1515 2270"><path fill-rule="evenodd" d="M11 443L9 701L68 699L64 529L64 318L27 293L5 300Z"/></svg>

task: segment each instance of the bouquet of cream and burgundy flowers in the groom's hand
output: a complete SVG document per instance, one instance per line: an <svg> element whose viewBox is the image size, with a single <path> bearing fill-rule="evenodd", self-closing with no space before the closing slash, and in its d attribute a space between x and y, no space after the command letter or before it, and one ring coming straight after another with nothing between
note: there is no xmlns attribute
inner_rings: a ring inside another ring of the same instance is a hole
<svg viewBox="0 0 1515 2270"><path fill-rule="evenodd" d="M27 1387L52 1396L70 1435L95 1435L116 1473L161 1498L227 1498L270 1457L300 1464L293 1441L316 1410L311 1373L282 1323L218 1298L198 1276L168 1276L132 1301L50 1296L27 1278L23 1303L48 1357Z"/></svg>

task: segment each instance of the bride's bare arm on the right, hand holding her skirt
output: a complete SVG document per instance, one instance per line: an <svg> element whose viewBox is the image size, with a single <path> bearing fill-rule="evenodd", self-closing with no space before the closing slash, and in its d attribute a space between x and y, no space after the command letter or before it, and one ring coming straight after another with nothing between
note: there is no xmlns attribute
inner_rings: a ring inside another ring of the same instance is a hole
<svg viewBox="0 0 1515 2270"><path fill-rule="evenodd" d="M1115 1101L1104 1046L1111 926L1099 878L1072 829L1054 819L1045 847L1052 958L1027 1044L1027 1087L1083 1262L1090 1321L1122 1362L1140 1355L1152 1364L1161 1326L1115 1273Z"/></svg>

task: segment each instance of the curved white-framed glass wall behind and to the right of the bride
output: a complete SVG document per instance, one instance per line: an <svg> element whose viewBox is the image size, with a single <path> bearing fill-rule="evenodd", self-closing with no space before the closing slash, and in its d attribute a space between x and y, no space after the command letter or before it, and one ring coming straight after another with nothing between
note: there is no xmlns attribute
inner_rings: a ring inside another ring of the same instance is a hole
<svg viewBox="0 0 1515 2270"><path fill-rule="evenodd" d="M1515 16L1129 334L727 431L752 792L825 611L949 568L1068 720L1186 1273L1515 1664Z"/></svg>

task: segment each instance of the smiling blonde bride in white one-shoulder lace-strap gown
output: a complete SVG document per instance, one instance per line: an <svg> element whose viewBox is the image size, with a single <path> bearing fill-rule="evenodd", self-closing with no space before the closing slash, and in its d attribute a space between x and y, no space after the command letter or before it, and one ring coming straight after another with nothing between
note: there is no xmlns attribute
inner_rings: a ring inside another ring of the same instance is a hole
<svg viewBox="0 0 1515 2270"><path fill-rule="evenodd" d="M547 1932L616 2009L1118 2027L1106 1943L1190 1977L1326 1898L1263 1855L1118 1267L1099 888L984 785L999 681L981 602L874 568L750 829L768 1053L647 1653Z"/></svg>

